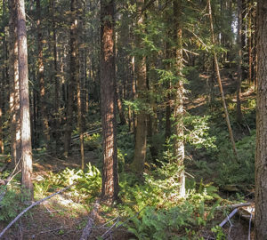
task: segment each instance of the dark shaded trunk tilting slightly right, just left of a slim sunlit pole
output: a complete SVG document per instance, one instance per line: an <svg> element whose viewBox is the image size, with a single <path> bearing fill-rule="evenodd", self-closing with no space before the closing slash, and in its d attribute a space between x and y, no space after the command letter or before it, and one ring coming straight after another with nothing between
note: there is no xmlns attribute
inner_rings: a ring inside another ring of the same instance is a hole
<svg viewBox="0 0 267 240"><path fill-rule="evenodd" d="M69 156L70 140L72 132L72 119L73 119L73 105L74 105L74 91L78 81L78 51L77 51L77 17L76 17L76 5L77 0L71 0L70 12L70 63L69 63L69 100L67 107L67 122L65 126L65 138L64 138L64 156Z"/></svg>

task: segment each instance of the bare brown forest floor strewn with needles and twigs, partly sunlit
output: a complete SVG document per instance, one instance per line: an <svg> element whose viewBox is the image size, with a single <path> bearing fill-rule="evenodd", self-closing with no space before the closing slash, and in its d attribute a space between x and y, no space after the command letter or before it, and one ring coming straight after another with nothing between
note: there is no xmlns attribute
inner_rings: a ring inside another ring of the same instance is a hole
<svg viewBox="0 0 267 240"><path fill-rule="evenodd" d="M206 88L208 76L201 75L201 82L198 86L190 92L188 100L186 102L186 110L193 114L202 114L206 112L206 96L203 95L203 88ZM233 94L236 89L236 79L229 77L227 73L223 72L223 89L225 94ZM214 95L220 98L220 93L218 87L215 84ZM241 100L245 101L247 99L255 98L255 93L252 88L247 89L246 92L242 93ZM231 98L232 101L235 99ZM99 161L98 156L93 151L86 152L85 163L97 164ZM34 180L43 180L44 176L49 176L49 172L61 172L63 169L68 167L69 169L78 168L79 156L73 154L66 160L59 159L54 156L48 155L36 155L34 157ZM53 189L56 192L59 189ZM53 194L51 192L51 194ZM231 192L222 191L222 196L229 196ZM42 196L37 196L37 199L41 199ZM253 201L253 199L245 199ZM92 210L93 202L85 205L79 200L74 201L73 197L69 194L62 193L60 195L53 196L53 198L45 201L44 203L37 205L30 211L28 211L25 216L21 217L12 228L10 228L3 239L40 239L40 240L56 240L56 239L79 239L82 235L82 231L88 220L88 215ZM13 206L13 208L20 207L21 210L27 207L27 205ZM97 236L104 234L109 228L103 226L107 217L107 213L104 211L98 212L95 220L95 228L93 228L93 234L90 239L97 239ZM218 216L218 221L222 216ZM243 240L247 239L248 236L248 222L245 220L240 220L239 217L234 217L231 220L232 226L227 223L224 227L224 232L227 234L228 239L233 240ZM1 221L0 229L3 229L6 223ZM129 234L125 228L118 228L112 233L107 239L132 239L133 235ZM214 239L208 237L205 239ZM251 234L251 239L253 239L253 232Z"/></svg>

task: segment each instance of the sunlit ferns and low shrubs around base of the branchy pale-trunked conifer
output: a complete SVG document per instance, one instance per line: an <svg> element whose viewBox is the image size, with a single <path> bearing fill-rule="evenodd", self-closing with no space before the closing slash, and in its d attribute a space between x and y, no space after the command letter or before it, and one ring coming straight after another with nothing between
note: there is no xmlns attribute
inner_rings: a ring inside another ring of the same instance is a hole
<svg viewBox="0 0 267 240"><path fill-rule="evenodd" d="M198 190L188 190L186 199L181 199L181 168L174 163L160 164L154 172L144 174L142 183L134 174L121 175L120 196L125 204L120 208L132 216L128 230L138 239L201 239L197 230L214 218L217 204L208 207L206 202L218 198L217 188L201 182Z"/></svg>

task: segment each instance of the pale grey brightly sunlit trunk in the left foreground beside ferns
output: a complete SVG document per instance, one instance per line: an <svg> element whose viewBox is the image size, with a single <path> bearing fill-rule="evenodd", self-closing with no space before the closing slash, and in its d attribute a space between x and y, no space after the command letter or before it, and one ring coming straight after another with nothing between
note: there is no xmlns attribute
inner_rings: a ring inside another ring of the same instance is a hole
<svg viewBox="0 0 267 240"><path fill-rule="evenodd" d="M17 0L20 79L21 184L33 197L32 151L28 100L28 50L24 0Z"/></svg>

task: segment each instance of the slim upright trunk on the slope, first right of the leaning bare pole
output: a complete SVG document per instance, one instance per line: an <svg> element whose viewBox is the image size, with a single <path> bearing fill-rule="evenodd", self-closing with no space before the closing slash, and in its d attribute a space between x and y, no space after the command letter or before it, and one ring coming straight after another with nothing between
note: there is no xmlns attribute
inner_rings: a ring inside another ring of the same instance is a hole
<svg viewBox="0 0 267 240"><path fill-rule="evenodd" d="M239 48L239 58L238 58L238 84L237 84L237 121L240 124L242 122L242 111L241 111L241 82L243 76L243 54L242 54L242 0L238 0L238 48Z"/></svg>

